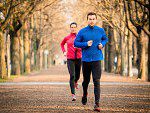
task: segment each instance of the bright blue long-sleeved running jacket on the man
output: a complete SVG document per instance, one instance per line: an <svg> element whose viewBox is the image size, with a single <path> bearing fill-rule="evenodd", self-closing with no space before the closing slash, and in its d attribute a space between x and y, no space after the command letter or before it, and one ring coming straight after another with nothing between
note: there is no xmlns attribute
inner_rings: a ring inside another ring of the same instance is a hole
<svg viewBox="0 0 150 113"><path fill-rule="evenodd" d="M88 47L87 42L93 40L92 46ZM103 28L98 26L87 26L79 31L74 41L74 46L82 48L82 61L92 62L103 60L102 50L98 49L101 43L103 47L108 38Z"/></svg>

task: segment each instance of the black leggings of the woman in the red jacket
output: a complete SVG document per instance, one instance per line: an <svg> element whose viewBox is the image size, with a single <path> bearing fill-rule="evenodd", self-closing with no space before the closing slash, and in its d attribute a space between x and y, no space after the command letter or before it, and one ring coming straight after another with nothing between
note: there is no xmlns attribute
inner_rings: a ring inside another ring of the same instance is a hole
<svg viewBox="0 0 150 113"><path fill-rule="evenodd" d="M75 94L75 82L80 78L81 59L67 59L67 67L70 74L71 93Z"/></svg>

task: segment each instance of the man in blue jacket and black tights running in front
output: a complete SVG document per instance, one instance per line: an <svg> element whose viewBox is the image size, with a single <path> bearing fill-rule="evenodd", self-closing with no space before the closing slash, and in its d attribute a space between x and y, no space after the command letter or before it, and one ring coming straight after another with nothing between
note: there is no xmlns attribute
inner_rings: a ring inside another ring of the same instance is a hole
<svg viewBox="0 0 150 113"><path fill-rule="evenodd" d="M103 60L102 48L108 41L103 28L96 26L97 15L94 12L87 14L88 26L81 29L74 41L75 47L82 48L82 68L83 68L83 97L82 104L87 103L87 89L92 72L94 83L95 105L94 111L100 112L100 78L101 62Z"/></svg>

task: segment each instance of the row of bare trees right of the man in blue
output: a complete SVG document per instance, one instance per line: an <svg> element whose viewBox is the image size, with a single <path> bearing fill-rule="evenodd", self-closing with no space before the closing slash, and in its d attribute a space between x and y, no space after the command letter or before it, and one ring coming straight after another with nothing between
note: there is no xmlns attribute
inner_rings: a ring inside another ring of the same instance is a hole
<svg viewBox="0 0 150 113"><path fill-rule="evenodd" d="M105 47L104 68L107 72L150 81L150 30L148 0L80 0L101 19L109 43ZM117 61L114 68L114 59Z"/></svg>

